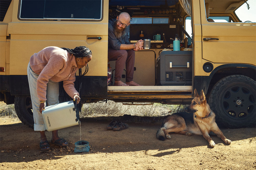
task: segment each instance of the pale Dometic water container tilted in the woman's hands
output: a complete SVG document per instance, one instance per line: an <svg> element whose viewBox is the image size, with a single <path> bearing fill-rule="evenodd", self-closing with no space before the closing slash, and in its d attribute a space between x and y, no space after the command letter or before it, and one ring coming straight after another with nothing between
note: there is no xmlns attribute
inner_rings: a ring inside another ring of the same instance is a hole
<svg viewBox="0 0 256 170"><path fill-rule="evenodd" d="M79 124L76 117L76 107L72 100L45 107L45 110L42 111L42 116L47 131Z"/></svg>

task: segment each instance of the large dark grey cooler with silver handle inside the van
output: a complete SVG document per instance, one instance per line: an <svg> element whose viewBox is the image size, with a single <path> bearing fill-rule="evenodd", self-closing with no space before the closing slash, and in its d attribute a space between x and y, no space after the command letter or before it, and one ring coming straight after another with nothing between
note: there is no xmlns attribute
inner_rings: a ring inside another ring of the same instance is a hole
<svg viewBox="0 0 256 170"><path fill-rule="evenodd" d="M191 86L192 51L163 51L156 60L156 85Z"/></svg>

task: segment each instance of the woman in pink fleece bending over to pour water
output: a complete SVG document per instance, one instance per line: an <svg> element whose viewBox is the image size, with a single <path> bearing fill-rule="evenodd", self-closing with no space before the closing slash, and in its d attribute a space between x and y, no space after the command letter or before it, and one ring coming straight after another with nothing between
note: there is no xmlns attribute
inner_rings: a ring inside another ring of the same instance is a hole
<svg viewBox="0 0 256 170"><path fill-rule="evenodd" d="M32 101L34 130L41 135L40 150L50 150L49 142L45 135L45 124L42 110L47 105L59 103L59 82L67 94L80 102L79 93L74 87L75 73L83 68L92 59L89 48L80 46L74 49L46 47L30 57L28 63L28 82ZM58 130L52 131L51 143L58 146L68 146L68 141L58 136Z"/></svg>

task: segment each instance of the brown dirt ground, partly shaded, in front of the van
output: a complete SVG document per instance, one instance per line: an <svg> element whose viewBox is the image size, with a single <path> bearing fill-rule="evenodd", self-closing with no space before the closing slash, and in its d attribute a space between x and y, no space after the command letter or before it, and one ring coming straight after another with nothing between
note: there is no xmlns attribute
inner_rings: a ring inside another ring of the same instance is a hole
<svg viewBox="0 0 256 170"><path fill-rule="evenodd" d="M129 123L121 131L107 130L110 121L82 119L82 140L89 142L89 152L74 153L80 140L79 125L60 129L59 136L68 148L50 144L40 152L39 133L18 120L0 118L0 169L255 169L255 128L221 129L232 141L226 145L212 135L214 148L198 135L171 134L159 141L159 123ZM46 133L48 140L51 132Z"/></svg>

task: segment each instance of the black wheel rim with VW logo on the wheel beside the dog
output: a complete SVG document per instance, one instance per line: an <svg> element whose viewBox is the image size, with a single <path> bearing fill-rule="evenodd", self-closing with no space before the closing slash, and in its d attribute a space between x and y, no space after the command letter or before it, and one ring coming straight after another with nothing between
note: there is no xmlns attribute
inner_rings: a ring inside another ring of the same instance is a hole
<svg viewBox="0 0 256 170"><path fill-rule="evenodd" d="M221 97L221 106L225 114L232 119L248 119L255 114L255 94L245 85L230 86Z"/></svg>

